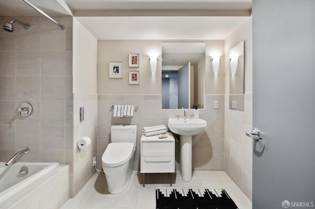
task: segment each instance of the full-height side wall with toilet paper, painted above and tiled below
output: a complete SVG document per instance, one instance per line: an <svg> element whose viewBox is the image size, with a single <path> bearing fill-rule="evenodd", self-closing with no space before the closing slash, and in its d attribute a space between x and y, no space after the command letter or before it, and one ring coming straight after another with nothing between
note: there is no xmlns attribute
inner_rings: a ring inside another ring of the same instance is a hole
<svg viewBox="0 0 315 209"><path fill-rule="evenodd" d="M67 108L73 111L72 144L67 146L70 161L70 197L74 197L95 174L92 158L97 149L97 40L73 18L73 97ZM84 121L80 121L79 108L84 107ZM78 149L77 142L84 136L91 145Z"/></svg>

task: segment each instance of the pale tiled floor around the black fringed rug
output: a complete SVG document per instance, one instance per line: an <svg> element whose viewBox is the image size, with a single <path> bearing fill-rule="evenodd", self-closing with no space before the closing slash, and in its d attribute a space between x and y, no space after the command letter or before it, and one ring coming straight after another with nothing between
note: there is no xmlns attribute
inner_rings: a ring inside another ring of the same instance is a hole
<svg viewBox="0 0 315 209"><path fill-rule="evenodd" d="M172 175L172 187L168 174L146 174L145 187L142 174L134 172L129 187L120 194L109 194L106 179L96 173L75 196L67 200L61 209L155 209L155 191L161 190L200 190L205 188L226 192L239 209L252 209L252 202L224 171L194 171L192 180L184 182L180 173Z"/></svg>

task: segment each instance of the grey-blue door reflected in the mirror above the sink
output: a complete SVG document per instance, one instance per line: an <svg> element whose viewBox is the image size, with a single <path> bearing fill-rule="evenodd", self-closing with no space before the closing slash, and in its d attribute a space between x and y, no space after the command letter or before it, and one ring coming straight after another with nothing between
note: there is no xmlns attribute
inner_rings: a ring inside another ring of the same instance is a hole
<svg viewBox="0 0 315 209"><path fill-rule="evenodd" d="M178 108L189 108L190 62L178 70Z"/></svg>

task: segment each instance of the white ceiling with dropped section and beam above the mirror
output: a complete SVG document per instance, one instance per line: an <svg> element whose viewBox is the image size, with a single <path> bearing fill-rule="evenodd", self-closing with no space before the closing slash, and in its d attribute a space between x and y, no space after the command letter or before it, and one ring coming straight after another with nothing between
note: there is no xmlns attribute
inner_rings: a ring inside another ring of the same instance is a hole
<svg viewBox="0 0 315 209"><path fill-rule="evenodd" d="M29 1L50 16L73 15L98 40L222 40L252 8L252 0ZM0 0L0 16L40 14L22 0Z"/></svg>

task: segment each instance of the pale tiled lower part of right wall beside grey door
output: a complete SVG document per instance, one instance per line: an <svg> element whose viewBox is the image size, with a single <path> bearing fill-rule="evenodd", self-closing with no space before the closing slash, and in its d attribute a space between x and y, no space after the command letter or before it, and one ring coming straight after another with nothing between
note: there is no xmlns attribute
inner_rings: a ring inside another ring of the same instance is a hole
<svg viewBox="0 0 315 209"><path fill-rule="evenodd" d="M252 131L252 93L244 95L244 111L225 106L224 171L252 200L252 139L245 135Z"/></svg>

